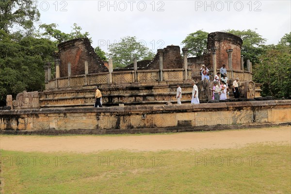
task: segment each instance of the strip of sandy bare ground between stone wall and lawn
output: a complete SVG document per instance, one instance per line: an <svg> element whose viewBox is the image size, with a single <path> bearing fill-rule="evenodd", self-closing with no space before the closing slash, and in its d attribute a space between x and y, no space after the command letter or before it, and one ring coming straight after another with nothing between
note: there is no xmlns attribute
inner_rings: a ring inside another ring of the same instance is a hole
<svg viewBox="0 0 291 194"><path fill-rule="evenodd" d="M291 126L139 136L0 136L0 149L24 152L201 150L243 147L251 143L291 145Z"/></svg>

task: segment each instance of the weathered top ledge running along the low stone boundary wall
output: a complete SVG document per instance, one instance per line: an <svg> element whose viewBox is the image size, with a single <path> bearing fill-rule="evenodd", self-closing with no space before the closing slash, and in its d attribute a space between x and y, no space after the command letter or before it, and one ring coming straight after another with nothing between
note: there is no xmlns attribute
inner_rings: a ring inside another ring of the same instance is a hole
<svg viewBox="0 0 291 194"><path fill-rule="evenodd" d="M92 105L93 106L93 105ZM182 104L182 105L140 105L125 107L76 107L76 108L41 108L41 109L20 109L0 111L1 115L21 115L21 114L45 114L45 113L186 113L186 112L209 112L232 109L266 109L276 106L291 107L291 100L266 100L266 101L245 101L245 102L218 102L203 104Z"/></svg>

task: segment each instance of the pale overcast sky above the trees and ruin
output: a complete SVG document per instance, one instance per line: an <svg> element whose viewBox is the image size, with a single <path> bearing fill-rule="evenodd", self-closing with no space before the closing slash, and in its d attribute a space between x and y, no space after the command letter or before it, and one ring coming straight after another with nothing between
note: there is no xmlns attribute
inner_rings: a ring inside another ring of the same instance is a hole
<svg viewBox="0 0 291 194"><path fill-rule="evenodd" d="M56 23L70 33L77 23L89 32L93 47L107 51L124 36L136 36L156 52L178 45L203 29L256 30L266 44L277 44L291 32L290 0L38 0L38 24Z"/></svg>

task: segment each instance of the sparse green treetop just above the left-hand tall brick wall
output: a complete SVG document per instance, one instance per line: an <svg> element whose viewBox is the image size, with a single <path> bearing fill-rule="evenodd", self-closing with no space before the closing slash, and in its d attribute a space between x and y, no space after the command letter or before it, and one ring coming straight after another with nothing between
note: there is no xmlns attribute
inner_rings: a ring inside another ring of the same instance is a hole
<svg viewBox="0 0 291 194"><path fill-rule="evenodd" d="M76 39L76 38L89 38L89 32L81 33L82 28L76 23L73 24L71 33L65 33L57 29L57 24L42 24L39 25L39 29L43 29L45 32L38 32L39 36L45 36L47 38L54 38L57 40L57 44ZM92 38L89 38L92 42Z"/></svg>

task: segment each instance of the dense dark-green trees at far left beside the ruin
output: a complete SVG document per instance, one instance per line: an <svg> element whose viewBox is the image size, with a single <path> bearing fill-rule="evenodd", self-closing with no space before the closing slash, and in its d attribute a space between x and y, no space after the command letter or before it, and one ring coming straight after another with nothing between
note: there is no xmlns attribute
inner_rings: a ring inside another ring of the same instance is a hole
<svg viewBox="0 0 291 194"><path fill-rule="evenodd" d="M56 50L54 42L46 38L2 34L0 42L0 101L6 95L14 97L24 90L44 89L44 69L46 62L52 61Z"/></svg>

